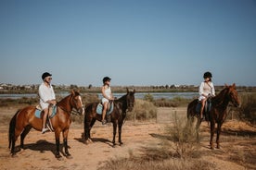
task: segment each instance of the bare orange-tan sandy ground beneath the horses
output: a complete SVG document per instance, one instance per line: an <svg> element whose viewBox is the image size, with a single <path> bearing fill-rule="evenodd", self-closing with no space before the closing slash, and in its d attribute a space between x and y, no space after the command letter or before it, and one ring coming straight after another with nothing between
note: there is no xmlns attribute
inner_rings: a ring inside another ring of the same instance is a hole
<svg viewBox="0 0 256 170"><path fill-rule="evenodd" d="M184 108L182 108L184 109ZM63 156L61 161L55 158L56 150L54 133L42 135L32 130L25 139L25 150L11 157L8 150L8 119L17 108L0 108L0 169L90 169L96 170L111 158L129 157L131 153L138 155L141 148L160 145L158 136L164 134L168 123L126 121L122 128L122 146L112 147L112 126L102 126L99 122L92 129L93 143L88 145L82 141L83 124L71 124L69 146L72 159ZM163 115L171 108L159 108ZM171 112L170 112L171 113ZM222 148L211 151L209 148L209 127L204 122L200 128L200 147L203 152L200 159L215 164L214 169L256 169L256 128L243 122L227 121L224 123L221 136ZM61 139L62 141L62 139ZM19 148L19 140L16 145ZM250 159L250 160L249 160Z"/></svg>

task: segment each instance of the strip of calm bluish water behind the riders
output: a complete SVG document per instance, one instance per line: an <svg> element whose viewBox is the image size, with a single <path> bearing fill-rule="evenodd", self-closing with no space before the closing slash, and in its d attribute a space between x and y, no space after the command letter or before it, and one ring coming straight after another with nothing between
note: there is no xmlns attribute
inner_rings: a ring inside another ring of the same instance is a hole
<svg viewBox="0 0 256 170"><path fill-rule="evenodd" d="M125 93L113 92L114 97L120 98ZM192 99L198 96L198 92L135 92L136 99L143 99L145 95L151 94L154 99L173 99L174 97L182 97L186 99ZM56 93L65 97L69 95L69 92ZM101 93L97 93L98 97L101 98ZM37 97L37 94L0 94L0 99L10 98L10 99L19 99L22 97Z"/></svg>

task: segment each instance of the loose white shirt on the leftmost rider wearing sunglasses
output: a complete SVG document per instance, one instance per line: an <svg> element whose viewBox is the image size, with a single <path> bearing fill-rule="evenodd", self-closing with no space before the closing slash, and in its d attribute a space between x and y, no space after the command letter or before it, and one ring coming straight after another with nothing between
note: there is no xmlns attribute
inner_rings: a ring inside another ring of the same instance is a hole
<svg viewBox="0 0 256 170"><path fill-rule="evenodd" d="M39 86L39 97L40 97L40 105L42 107L42 109L45 109L49 106L49 103L46 103L49 100L55 100L55 92L53 90L52 85L50 85L49 87L47 87L45 85L45 83L43 82L40 86Z"/></svg>

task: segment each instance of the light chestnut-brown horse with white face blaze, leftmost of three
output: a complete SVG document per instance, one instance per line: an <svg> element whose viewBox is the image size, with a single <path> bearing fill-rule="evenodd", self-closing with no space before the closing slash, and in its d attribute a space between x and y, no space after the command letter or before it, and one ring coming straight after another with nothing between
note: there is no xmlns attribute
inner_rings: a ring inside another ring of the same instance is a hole
<svg viewBox="0 0 256 170"><path fill-rule="evenodd" d="M75 108L79 114L83 114L83 103L78 91L71 91L69 96L66 96L57 103L57 113L51 118L52 127L55 132L56 139L56 157L59 159L59 135L62 132L63 141L65 147L65 156L71 158L70 152L68 151L68 133L70 128L70 114L72 109ZM20 109L10 120L9 124L9 149L11 150L12 156L15 152L15 142L18 140L20 135L20 148L24 148L24 139L32 128L41 131L42 130L42 118L35 116L35 106L27 106Z"/></svg>

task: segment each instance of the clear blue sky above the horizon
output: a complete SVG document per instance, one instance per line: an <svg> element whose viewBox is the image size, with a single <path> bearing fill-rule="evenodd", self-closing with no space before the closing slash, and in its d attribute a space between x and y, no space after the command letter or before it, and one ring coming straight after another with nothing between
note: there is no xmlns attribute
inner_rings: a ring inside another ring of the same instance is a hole
<svg viewBox="0 0 256 170"><path fill-rule="evenodd" d="M255 0L1 0L0 83L256 86Z"/></svg>

